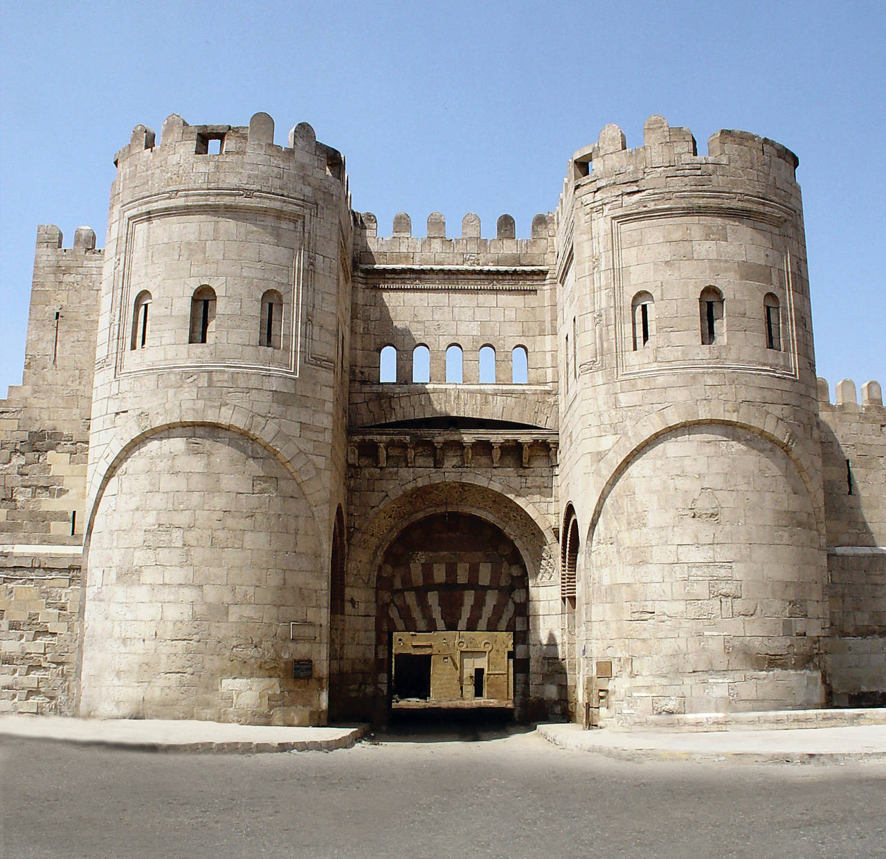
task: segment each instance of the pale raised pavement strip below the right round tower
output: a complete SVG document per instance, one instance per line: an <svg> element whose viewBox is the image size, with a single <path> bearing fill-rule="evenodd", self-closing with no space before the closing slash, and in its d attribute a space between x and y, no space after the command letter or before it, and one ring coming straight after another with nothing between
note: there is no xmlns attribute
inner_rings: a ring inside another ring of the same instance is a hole
<svg viewBox="0 0 886 859"><path fill-rule="evenodd" d="M575 724L540 724L536 732L554 746L621 761L804 764L886 761L884 725L629 734L605 729L582 730Z"/></svg>

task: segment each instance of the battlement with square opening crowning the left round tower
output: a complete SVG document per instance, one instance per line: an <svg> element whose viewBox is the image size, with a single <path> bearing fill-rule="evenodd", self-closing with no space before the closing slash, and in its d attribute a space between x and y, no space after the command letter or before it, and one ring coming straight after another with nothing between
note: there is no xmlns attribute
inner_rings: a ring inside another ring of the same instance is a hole
<svg viewBox="0 0 886 859"><path fill-rule="evenodd" d="M314 129L307 122L299 122L289 132L287 146L274 143L274 120L268 113L256 113L248 126L190 125L178 113L171 113L163 121L159 144L153 129L136 125L129 144L114 155L114 166L145 151L176 155L230 156L246 152L278 155L293 161L305 161L310 166L319 164L328 175L346 183L345 159L341 152L319 143Z"/></svg>

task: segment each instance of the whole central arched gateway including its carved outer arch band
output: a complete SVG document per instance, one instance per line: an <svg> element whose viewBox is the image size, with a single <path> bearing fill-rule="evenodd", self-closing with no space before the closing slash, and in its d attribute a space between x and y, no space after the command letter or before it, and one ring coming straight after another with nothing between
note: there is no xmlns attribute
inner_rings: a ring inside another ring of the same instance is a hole
<svg viewBox="0 0 886 859"><path fill-rule="evenodd" d="M330 717L383 723L404 699L509 706L517 719L544 707L540 664L530 682L548 637L530 606L556 587L544 521L501 488L458 480L416 481L356 518L344 613L332 619L346 645L331 665Z"/></svg>

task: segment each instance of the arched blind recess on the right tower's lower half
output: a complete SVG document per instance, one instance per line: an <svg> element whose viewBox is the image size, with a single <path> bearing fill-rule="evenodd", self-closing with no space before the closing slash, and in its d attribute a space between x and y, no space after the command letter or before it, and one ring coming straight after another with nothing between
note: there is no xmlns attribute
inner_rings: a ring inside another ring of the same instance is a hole
<svg viewBox="0 0 886 859"><path fill-rule="evenodd" d="M821 706L815 508L797 458L736 422L663 429L619 462L583 553L610 716Z"/></svg>

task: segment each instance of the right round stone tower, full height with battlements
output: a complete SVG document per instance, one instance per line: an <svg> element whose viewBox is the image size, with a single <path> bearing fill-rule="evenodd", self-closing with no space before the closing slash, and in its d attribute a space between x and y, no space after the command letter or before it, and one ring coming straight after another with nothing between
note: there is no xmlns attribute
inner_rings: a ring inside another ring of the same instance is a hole
<svg viewBox="0 0 886 859"><path fill-rule="evenodd" d="M793 152L742 131L719 131L699 156L660 116L643 146L626 149L610 125L570 161L560 498L564 581L578 586L563 612L579 699L602 722L824 701L796 168Z"/></svg>

